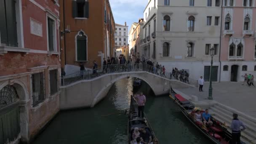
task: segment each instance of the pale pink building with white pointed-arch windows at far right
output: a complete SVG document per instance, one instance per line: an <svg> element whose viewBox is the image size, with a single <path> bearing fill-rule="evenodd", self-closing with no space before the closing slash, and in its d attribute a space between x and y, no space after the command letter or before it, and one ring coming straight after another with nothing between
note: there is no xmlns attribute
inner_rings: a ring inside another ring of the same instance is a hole
<svg viewBox="0 0 256 144"><path fill-rule="evenodd" d="M256 76L256 1L223 0L221 81L243 81Z"/></svg>

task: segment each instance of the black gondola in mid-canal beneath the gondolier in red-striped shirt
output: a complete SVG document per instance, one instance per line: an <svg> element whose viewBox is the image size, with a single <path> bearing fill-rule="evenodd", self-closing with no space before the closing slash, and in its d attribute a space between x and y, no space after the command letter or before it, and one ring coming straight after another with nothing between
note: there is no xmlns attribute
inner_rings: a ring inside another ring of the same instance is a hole
<svg viewBox="0 0 256 144"><path fill-rule="evenodd" d="M138 104L133 96L131 96L130 111L128 115L128 144L132 144L133 140L133 130L134 128L145 128L151 133L152 139L155 138L155 133L147 119L147 116L144 114L144 118L138 117Z"/></svg>

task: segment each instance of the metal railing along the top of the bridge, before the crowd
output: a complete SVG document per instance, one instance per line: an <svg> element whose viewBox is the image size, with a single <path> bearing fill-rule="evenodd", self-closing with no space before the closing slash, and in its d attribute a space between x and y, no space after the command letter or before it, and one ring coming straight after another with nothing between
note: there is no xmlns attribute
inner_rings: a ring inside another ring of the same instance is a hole
<svg viewBox="0 0 256 144"><path fill-rule="evenodd" d="M95 77L99 77L104 74L114 73L114 72L136 72L136 71L147 71L160 77L165 77L168 79L176 79L190 85L195 85L198 87L198 81L190 77L184 77L181 75L175 75L171 72L163 71L162 69L157 69L148 64L111 64L103 66L102 68L83 70L72 73L70 75L65 75L61 77L61 85L69 85L80 80L90 80Z"/></svg>

